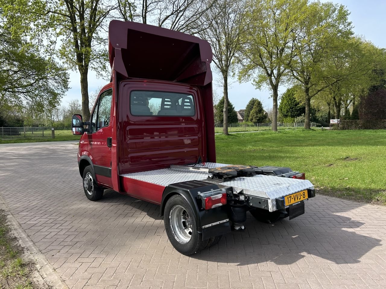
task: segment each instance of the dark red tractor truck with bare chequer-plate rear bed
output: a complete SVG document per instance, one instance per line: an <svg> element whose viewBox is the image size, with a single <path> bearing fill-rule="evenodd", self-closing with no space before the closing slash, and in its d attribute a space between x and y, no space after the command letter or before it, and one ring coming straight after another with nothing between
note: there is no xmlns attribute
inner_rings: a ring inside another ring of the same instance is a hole
<svg viewBox="0 0 386 289"><path fill-rule="evenodd" d="M304 173L216 163L207 41L118 20L108 36L110 83L89 120L73 116L89 200L112 189L160 205L166 234L185 255L243 230L247 211L264 222L305 212L315 190Z"/></svg>

